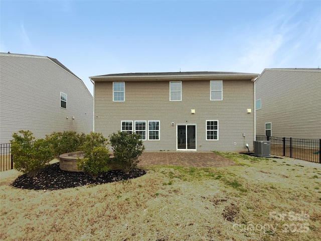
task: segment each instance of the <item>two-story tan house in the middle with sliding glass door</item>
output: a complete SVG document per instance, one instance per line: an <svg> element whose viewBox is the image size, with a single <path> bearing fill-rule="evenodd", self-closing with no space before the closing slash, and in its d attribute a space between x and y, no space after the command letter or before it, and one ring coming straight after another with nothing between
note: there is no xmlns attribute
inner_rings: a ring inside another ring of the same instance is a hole
<svg viewBox="0 0 321 241"><path fill-rule="evenodd" d="M93 76L94 130L141 136L146 151L246 151L254 140L254 79L234 72Z"/></svg>

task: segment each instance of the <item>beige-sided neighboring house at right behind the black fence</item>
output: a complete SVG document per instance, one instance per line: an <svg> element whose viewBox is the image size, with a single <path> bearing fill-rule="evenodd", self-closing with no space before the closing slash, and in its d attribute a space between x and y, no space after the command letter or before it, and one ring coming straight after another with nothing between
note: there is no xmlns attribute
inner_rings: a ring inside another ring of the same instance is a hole
<svg viewBox="0 0 321 241"><path fill-rule="evenodd" d="M257 135L321 138L321 69L264 69L255 88Z"/></svg>

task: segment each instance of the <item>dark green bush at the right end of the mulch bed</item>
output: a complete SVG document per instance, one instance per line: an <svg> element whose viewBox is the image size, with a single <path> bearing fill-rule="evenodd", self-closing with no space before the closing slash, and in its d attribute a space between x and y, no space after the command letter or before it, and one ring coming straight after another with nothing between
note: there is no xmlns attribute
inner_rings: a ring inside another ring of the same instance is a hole
<svg viewBox="0 0 321 241"><path fill-rule="evenodd" d="M120 132L109 136L110 145L114 152L115 163L126 173L137 167L138 157L145 150L140 135Z"/></svg>

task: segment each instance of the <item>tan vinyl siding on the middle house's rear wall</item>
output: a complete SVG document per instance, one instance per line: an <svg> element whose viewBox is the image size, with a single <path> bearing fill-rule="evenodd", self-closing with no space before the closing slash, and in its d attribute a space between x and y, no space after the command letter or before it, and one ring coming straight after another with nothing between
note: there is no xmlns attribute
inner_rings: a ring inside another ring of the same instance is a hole
<svg viewBox="0 0 321 241"><path fill-rule="evenodd" d="M144 141L148 151L175 151L177 124L197 126L197 151L245 151L244 143L252 145L254 116L246 113L254 109L252 81L224 80L221 101L210 100L209 80L182 81L182 101L170 101L169 82L125 82L124 102L112 101L112 82L96 82L95 132L108 137L120 130L120 121L160 121L160 140ZM211 119L219 121L218 141L206 141Z"/></svg>

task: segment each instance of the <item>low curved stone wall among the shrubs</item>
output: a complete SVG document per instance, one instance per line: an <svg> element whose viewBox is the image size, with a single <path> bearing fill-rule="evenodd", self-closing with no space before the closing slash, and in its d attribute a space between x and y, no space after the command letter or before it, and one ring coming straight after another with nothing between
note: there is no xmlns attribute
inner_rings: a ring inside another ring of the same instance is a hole
<svg viewBox="0 0 321 241"><path fill-rule="evenodd" d="M59 156L59 167L61 170L68 172L82 172L77 168L77 159L84 158L84 152L69 152ZM109 158L113 158L113 153L110 153ZM117 169L116 166L112 167L113 170Z"/></svg>

